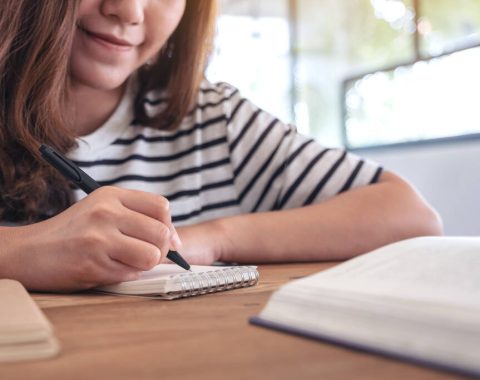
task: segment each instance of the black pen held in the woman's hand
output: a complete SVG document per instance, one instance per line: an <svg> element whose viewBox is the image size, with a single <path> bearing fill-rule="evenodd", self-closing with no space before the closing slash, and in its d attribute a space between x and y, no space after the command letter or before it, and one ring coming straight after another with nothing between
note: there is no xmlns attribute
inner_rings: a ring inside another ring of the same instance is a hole
<svg viewBox="0 0 480 380"><path fill-rule="evenodd" d="M100 187L100 184L75 165L71 160L56 152L48 145L40 146L42 157L55 169L57 169L65 178L72 181L85 193L90 194L93 190ZM190 264L177 252L168 251L167 258L185 270L190 270Z"/></svg>

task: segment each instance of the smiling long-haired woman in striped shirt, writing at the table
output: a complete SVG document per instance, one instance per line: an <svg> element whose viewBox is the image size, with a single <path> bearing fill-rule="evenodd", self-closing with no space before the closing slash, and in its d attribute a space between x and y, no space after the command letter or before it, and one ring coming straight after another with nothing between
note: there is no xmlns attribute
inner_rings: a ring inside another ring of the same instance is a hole
<svg viewBox="0 0 480 380"><path fill-rule="evenodd" d="M76 290L135 279L169 248L192 264L338 260L441 232L398 176L202 79L214 8L0 3L0 277ZM71 189L42 143L106 186Z"/></svg>

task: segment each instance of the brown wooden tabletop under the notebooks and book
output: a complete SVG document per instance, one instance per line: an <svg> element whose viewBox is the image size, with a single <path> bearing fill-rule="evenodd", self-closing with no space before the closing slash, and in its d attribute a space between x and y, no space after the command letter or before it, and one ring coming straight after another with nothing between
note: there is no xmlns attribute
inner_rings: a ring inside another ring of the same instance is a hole
<svg viewBox="0 0 480 380"><path fill-rule="evenodd" d="M261 265L255 287L177 301L33 294L61 354L1 364L0 379L459 378L248 323L281 284L331 265Z"/></svg>

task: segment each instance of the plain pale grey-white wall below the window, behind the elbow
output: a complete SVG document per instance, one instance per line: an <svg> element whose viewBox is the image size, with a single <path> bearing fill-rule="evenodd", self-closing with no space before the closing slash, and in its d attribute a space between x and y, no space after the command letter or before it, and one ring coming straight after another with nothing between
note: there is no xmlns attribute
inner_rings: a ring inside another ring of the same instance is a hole
<svg viewBox="0 0 480 380"><path fill-rule="evenodd" d="M358 153L414 184L442 216L446 235L480 236L480 140Z"/></svg>

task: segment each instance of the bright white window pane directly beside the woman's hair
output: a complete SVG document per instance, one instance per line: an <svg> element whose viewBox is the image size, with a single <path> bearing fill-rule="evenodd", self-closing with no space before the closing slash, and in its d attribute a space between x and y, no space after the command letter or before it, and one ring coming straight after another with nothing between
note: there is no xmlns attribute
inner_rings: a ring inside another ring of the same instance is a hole
<svg viewBox="0 0 480 380"><path fill-rule="evenodd" d="M287 1L223 1L207 77L294 122Z"/></svg>

